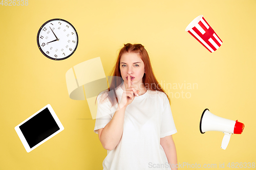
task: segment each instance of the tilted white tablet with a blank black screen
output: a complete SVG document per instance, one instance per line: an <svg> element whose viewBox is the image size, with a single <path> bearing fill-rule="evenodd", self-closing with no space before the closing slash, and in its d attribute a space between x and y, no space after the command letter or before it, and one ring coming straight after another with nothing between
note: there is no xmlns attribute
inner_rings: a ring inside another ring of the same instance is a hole
<svg viewBox="0 0 256 170"><path fill-rule="evenodd" d="M60 123L51 105L48 104L14 129L26 151L30 152L61 132L64 127Z"/></svg>

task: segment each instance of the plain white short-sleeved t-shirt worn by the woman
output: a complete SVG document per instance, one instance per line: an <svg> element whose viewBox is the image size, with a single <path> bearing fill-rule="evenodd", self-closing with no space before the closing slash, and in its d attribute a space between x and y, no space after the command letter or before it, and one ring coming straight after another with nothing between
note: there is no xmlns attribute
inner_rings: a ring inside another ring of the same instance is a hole
<svg viewBox="0 0 256 170"><path fill-rule="evenodd" d="M118 86L116 94L119 102L122 93L123 89ZM117 105L111 108L108 99L102 104L98 102L95 133L98 134L98 129L110 122ZM165 93L147 89L126 107L122 137L114 150L107 151L103 170L171 169L160 138L176 132Z"/></svg>

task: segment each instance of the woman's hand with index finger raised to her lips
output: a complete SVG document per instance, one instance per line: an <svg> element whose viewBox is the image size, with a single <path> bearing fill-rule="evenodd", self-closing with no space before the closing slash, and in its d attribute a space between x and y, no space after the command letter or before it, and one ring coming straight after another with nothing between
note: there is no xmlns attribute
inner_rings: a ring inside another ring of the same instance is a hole
<svg viewBox="0 0 256 170"><path fill-rule="evenodd" d="M139 92L140 92L139 90L136 90L134 87L132 87L131 76L128 74L127 88L123 90L123 94L122 94L119 106L126 107L130 105L135 99L136 95L139 96L138 94Z"/></svg>

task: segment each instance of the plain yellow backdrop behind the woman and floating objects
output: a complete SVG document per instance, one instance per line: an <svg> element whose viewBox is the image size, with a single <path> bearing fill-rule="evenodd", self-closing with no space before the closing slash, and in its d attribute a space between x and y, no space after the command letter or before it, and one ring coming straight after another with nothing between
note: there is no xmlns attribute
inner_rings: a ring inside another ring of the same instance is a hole
<svg viewBox="0 0 256 170"><path fill-rule="evenodd" d="M256 162L255 9L255 0L30 0L28 6L0 5L0 169L102 169L106 151L93 132L95 119L87 101L69 98L65 74L100 57L109 76L118 50L128 42L145 46L162 85L198 85L165 87L167 93L191 94L170 95L180 164L225 163L228 169L229 162ZM223 41L214 53L185 32L201 14ZM46 58L36 43L40 26L53 18L68 20L78 33L76 52L63 61ZM47 104L65 130L27 153L14 127ZM222 132L200 133L205 108L245 124L241 135L231 135L226 150L220 148Z"/></svg>

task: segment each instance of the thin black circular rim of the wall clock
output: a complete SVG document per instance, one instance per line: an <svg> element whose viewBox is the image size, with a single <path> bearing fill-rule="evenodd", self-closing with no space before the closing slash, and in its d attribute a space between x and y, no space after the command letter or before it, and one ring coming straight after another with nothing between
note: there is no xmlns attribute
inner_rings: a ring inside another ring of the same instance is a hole
<svg viewBox="0 0 256 170"><path fill-rule="evenodd" d="M76 47L75 47L74 51L73 51L69 56L67 56L67 57L65 57L65 58L56 59L56 58L52 58L52 57L48 56L47 54L45 54L44 51L41 50L41 47L40 47L40 44L39 44L39 33L41 32L41 29L44 28L44 26L45 26L48 22L51 22L51 21L53 21L53 20L61 20L61 21L65 21L65 22L69 23L69 25L70 25L71 27L73 27L73 29L74 29L75 32L76 32L76 37L77 37ZM55 18L55 19L50 19L50 20L46 21L46 22L40 27L40 29L39 29L39 31L38 31L38 33L37 33L37 36L36 36L36 42L37 42L37 46L38 46L40 52L41 52L42 54L44 54L47 58L49 58L49 59L51 59L51 60L65 60L65 59L69 58L70 56L72 56L72 55L74 54L74 52L76 51L76 48L77 48L77 46L78 46L78 34L77 34L77 31L76 31L75 27L74 27L69 21L67 21L67 20L65 20L65 19Z"/></svg>

